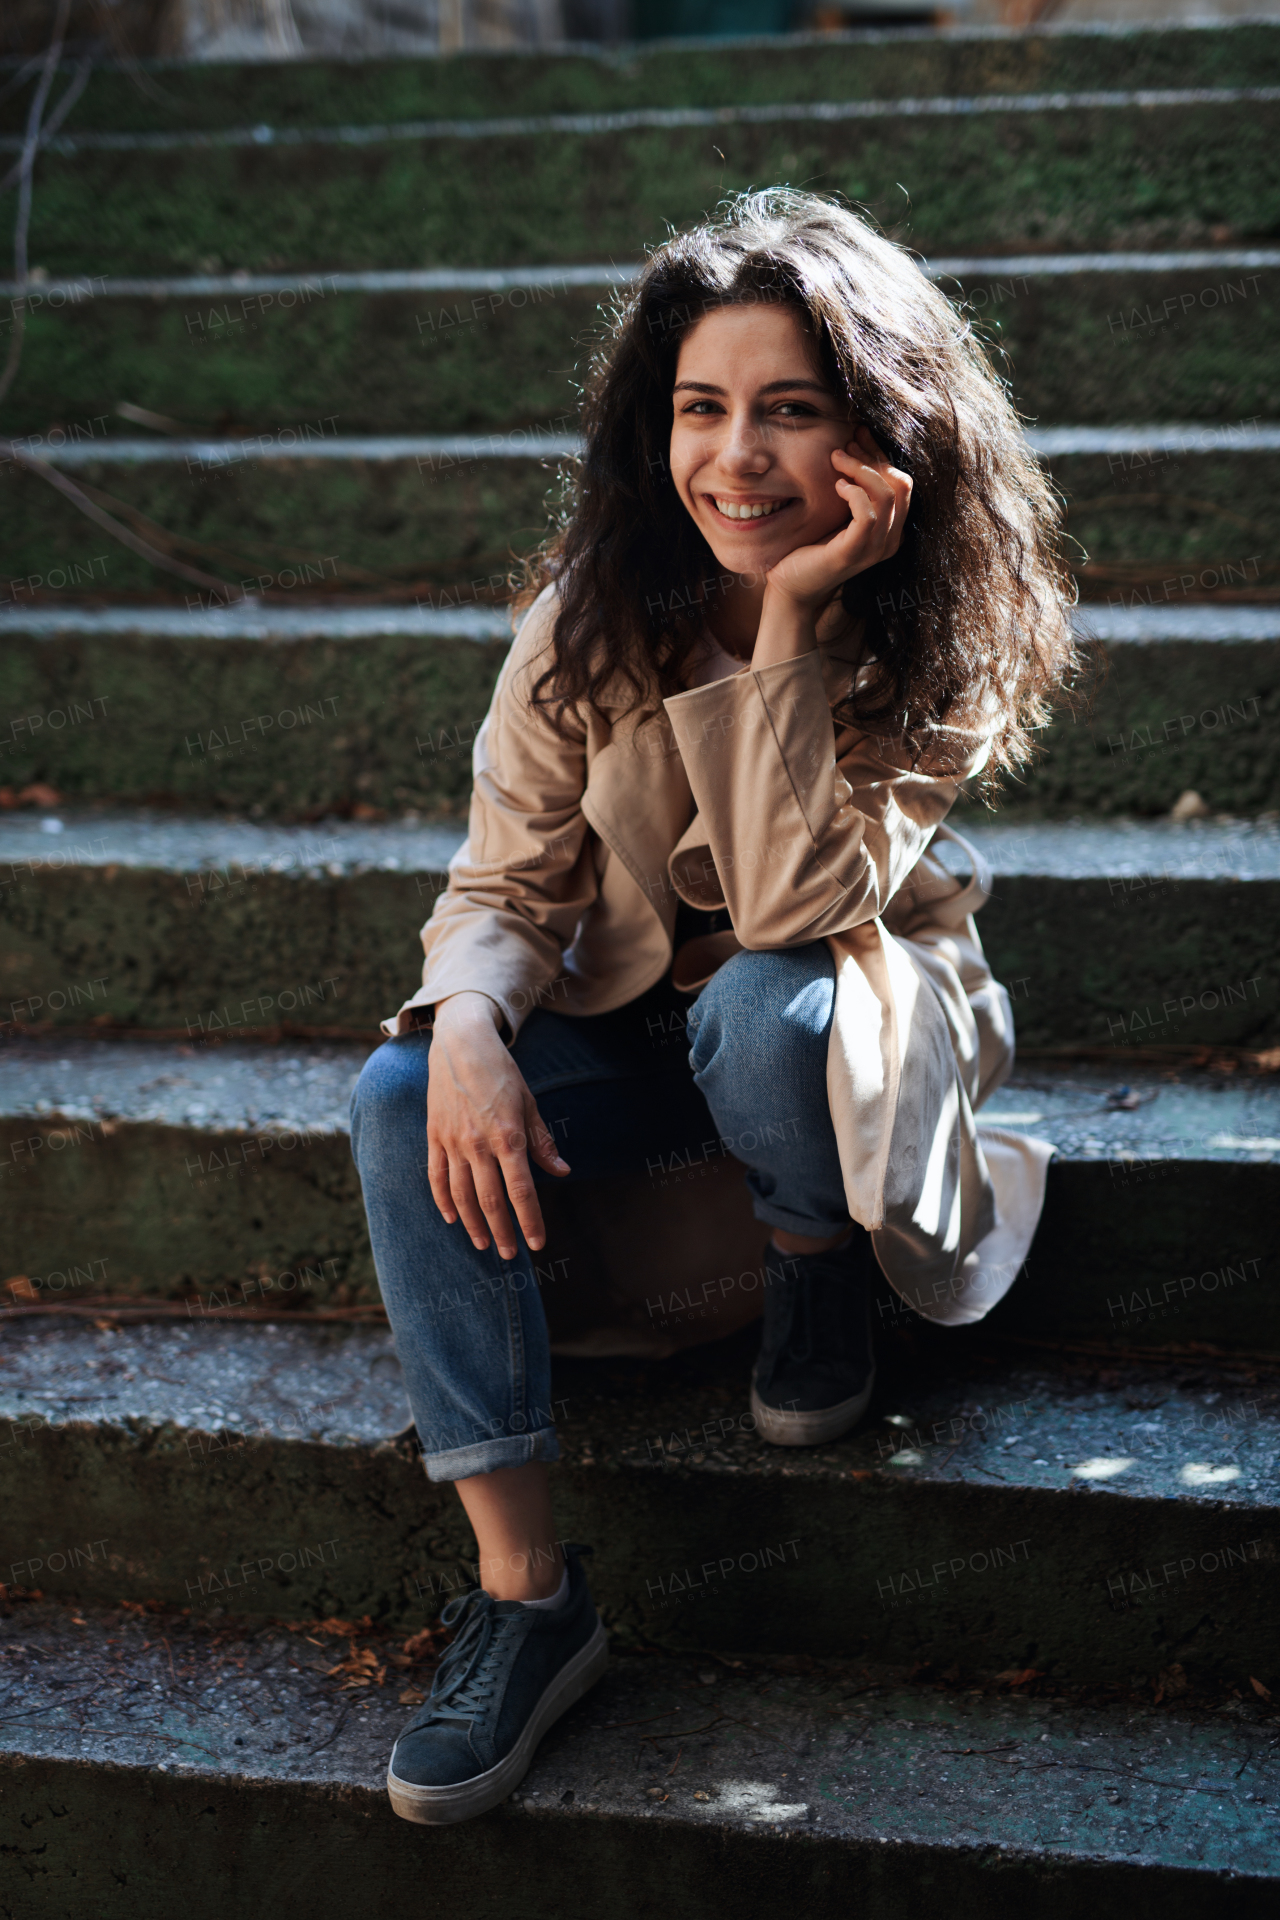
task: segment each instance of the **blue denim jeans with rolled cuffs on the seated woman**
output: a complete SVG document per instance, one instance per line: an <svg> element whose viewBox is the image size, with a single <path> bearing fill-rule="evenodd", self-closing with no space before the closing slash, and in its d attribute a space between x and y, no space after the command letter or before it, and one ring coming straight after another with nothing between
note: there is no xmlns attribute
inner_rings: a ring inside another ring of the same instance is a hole
<svg viewBox="0 0 1280 1920"><path fill-rule="evenodd" d="M662 981L612 1014L537 1008L512 1056L570 1179L729 1154L756 1217L814 1238L848 1225L827 1106L835 970L823 941L735 954L689 1004ZM478 1252L426 1177L430 1031L386 1041L351 1100L378 1284L432 1480L558 1457L537 1258ZM537 1175L547 1181L547 1175ZM543 1256L545 1260L547 1256Z"/></svg>

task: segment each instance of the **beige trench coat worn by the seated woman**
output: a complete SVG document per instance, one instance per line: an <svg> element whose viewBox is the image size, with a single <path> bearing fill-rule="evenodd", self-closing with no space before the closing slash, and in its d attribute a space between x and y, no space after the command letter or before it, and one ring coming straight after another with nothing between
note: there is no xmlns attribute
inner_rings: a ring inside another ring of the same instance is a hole
<svg viewBox="0 0 1280 1920"><path fill-rule="evenodd" d="M672 968L679 899L727 906L733 933L681 948L677 985L741 948L825 939L848 1212L912 1308L981 1319L1027 1258L1054 1148L975 1119L1013 1066L1013 1020L973 924L988 876L971 849L967 883L929 851L958 839L942 826L958 781L837 733L856 639L695 685L666 716L620 701L562 737L530 705L553 618L549 589L476 737L470 829L422 929L422 987L384 1031L459 991L489 995L509 1039L535 1006L624 1006ZM973 741L971 768L983 753Z"/></svg>

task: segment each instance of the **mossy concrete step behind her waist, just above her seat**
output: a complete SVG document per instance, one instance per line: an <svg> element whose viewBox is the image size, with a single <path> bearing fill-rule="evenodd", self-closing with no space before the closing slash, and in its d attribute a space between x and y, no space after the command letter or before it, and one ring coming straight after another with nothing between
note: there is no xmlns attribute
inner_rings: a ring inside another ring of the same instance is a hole
<svg viewBox="0 0 1280 1920"><path fill-rule="evenodd" d="M960 826L996 870L983 939L1025 1046L1280 1039L1274 822L992 828L973 812ZM267 828L10 812L0 968L13 1027L200 1037L284 1018L372 1035L420 977L416 929L447 845L413 816Z"/></svg>

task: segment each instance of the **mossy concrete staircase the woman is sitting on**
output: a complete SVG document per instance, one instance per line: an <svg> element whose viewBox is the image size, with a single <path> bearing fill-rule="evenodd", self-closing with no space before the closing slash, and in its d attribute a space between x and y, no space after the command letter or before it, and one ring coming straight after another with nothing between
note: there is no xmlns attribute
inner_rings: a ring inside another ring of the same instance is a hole
<svg viewBox="0 0 1280 1920"><path fill-rule="evenodd" d="M1278 75L1245 25L92 77L4 424L225 588L6 463L0 1914L1272 1910ZM428 1834L380 1774L470 1542L347 1094L597 307L773 179L904 232L908 186L1088 555L1094 705L960 822L1023 1043L992 1110L1059 1154L1009 1298L942 1336L885 1292L816 1455L750 1432L750 1325L710 1340L758 1277L681 1271L693 1169L662 1229L553 1215L558 1513L618 1657Z"/></svg>

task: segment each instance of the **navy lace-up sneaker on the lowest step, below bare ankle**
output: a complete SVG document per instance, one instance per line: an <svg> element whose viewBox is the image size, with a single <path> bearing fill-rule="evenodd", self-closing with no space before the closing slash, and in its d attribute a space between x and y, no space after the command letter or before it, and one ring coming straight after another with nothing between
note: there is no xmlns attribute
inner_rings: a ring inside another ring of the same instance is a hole
<svg viewBox="0 0 1280 1920"><path fill-rule="evenodd" d="M520 1786L547 1728L593 1688L608 1638L587 1590L581 1553L564 1548L568 1599L522 1607L482 1586L451 1599L457 1628L432 1697L391 1747L388 1793L401 1820L449 1826L497 1807Z"/></svg>

